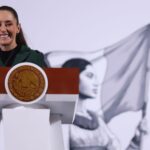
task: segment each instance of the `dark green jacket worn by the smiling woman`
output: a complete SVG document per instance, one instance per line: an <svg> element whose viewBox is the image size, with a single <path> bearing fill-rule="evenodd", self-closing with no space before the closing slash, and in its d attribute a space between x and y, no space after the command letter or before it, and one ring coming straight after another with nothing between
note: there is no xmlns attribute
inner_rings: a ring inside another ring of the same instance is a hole
<svg viewBox="0 0 150 150"><path fill-rule="evenodd" d="M32 50L25 45L20 47L19 51L15 54L15 57L13 58L10 66L14 66L21 62L31 62L37 64L40 67L46 67L44 55L41 52ZM0 66L6 67L1 59Z"/></svg>

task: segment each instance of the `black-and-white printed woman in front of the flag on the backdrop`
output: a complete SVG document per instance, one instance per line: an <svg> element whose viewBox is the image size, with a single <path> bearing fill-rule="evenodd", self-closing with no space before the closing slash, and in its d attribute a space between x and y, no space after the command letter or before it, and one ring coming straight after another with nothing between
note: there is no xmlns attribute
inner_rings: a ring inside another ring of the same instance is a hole
<svg viewBox="0 0 150 150"><path fill-rule="evenodd" d="M120 145L103 121L102 113L86 109L87 99L94 99L98 92L98 80L92 64L75 58L62 67L79 68L79 101L75 120L70 127L71 150L119 150ZM100 111L102 112L102 111Z"/></svg>

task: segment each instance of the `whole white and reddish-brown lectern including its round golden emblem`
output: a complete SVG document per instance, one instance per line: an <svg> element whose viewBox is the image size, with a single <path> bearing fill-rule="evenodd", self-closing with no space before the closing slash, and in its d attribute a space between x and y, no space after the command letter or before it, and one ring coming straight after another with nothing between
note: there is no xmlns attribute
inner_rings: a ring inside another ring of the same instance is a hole
<svg viewBox="0 0 150 150"><path fill-rule="evenodd" d="M78 76L75 68L1 67L3 150L64 150L61 125L74 119Z"/></svg>

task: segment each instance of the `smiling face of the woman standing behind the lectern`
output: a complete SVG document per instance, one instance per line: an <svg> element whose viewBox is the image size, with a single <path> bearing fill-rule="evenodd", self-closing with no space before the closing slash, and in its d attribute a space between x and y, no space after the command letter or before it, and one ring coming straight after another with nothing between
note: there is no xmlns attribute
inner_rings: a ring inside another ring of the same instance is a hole
<svg viewBox="0 0 150 150"><path fill-rule="evenodd" d="M16 18L7 10L0 10L0 48L11 50L16 47L16 35L20 31L20 25Z"/></svg>

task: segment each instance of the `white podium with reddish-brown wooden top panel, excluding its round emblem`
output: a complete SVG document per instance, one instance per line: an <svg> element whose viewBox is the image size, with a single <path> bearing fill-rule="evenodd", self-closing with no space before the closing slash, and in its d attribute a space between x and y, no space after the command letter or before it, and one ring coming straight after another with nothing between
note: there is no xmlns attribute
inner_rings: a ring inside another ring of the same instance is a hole
<svg viewBox="0 0 150 150"><path fill-rule="evenodd" d="M0 69L3 78L8 71L9 68ZM64 150L61 125L70 124L74 119L78 70L57 68L45 69L45 72L48 90L36 102L14 101L4 87L0 87L2 150Z"/></svg>

